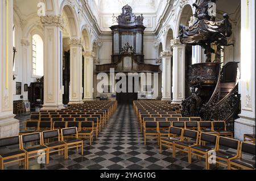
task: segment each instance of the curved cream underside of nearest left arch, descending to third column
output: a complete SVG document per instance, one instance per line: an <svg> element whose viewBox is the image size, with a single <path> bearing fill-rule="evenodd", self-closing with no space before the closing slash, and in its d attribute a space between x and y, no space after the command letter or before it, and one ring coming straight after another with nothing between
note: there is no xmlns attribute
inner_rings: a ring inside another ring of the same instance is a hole
<svg viewBox="0 0 256 181"><path fill-rule="evenodd" d="M70 38L80 38L79 23L75 9L68 4L68 1L63 1L63 3L61 3L60 12L65 16L64 20L65 18L67 19L65 23L68 25Z"/></svg>

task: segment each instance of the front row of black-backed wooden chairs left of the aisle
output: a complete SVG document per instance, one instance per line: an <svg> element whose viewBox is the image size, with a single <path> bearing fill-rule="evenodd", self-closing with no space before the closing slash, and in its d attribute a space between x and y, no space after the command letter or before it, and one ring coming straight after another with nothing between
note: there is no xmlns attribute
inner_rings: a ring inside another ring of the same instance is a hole
<svg viewBox="0 0 256 181"><path fill-rule="evenodd" d="M0 169L5 169L8 163L24 162L24 168L29 168L29 159L36 157L46 157L45 163L49 163L49 154L64 151L64 158L68 159L68 150L81 148L84 154L84 143L81 138L87 133L78 132L77 128L64 128L59 132L58 129L52 131L34 132L0 139L0 148L6 146L17 146L16 149L0 151ZM1 149L2 150L2 149Z"/></svg>

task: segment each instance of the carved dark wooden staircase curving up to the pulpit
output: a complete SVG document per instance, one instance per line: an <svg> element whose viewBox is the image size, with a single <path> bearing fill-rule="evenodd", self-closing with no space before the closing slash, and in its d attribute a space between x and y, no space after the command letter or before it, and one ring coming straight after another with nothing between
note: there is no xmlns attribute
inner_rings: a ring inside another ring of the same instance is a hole
<svg viewBox="0 0 256 181"><path fill-rule="evenodd" d="M197 116L200 116L205 121L224 120L227 123L237 119L241 107L240 94L238 94L237 70L238 62L228 62L222 67L212 96L207 103L201 105ZM184 100L183 105L186 105L186 102L190 99L191 97Z"/></svg>

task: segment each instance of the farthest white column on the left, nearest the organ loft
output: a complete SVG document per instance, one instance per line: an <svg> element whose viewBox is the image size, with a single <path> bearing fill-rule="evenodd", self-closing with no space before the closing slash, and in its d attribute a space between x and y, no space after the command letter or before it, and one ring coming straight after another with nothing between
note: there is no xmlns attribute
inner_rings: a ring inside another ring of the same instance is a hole
<svg viewBox="0 0 256 181"><path fill-rule="evenodd" d="M83 52L82 56L84 56L84 101L93 100L93 52Z"/></svg>

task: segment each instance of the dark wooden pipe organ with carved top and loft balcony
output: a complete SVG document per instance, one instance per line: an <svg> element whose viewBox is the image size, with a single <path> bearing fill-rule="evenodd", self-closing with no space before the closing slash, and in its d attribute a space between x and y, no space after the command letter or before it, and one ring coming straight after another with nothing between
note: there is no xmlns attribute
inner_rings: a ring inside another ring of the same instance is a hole
<svg viewBox="0 0 256 181"><path fill-rule="evenodd" d="M135 16L130 6L122 8L122 14L113 15L112 30L112 63L96 65L97 73L108 72L160 72L159 65L144 64L143 15Z"/></svg>

